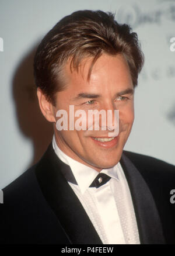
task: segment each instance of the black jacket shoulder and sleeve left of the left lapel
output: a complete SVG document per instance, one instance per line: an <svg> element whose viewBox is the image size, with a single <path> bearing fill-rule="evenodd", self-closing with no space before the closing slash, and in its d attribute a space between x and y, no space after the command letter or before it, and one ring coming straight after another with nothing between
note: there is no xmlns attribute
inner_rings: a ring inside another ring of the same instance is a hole
<svg viewBox="0 0 175 256"><path fill-rule="evenodd" d="M0 244L68 243L61 223L38 185L35 173L38 164L2 189Z"/></svg>

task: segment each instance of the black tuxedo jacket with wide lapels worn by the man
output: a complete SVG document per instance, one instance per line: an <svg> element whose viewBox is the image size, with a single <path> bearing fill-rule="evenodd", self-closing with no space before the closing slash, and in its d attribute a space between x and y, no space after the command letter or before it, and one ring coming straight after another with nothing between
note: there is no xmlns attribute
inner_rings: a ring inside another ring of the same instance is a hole
<svg viewBox="0 0 175 256"><path fill-rule="evenodd" d="M175 167L124 151L121 165L131 191L141 244L175 244ZM3 189L1 244L101 244L50 145L38 164Z"/></svg>

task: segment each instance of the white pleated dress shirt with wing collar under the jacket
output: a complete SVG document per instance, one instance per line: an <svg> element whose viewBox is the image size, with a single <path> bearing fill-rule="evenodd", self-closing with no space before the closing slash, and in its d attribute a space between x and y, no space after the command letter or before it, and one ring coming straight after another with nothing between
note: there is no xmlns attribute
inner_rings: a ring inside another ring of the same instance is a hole
<svg viewBox="0 0 175 256"><path fill-rule="evenodd" d="M102 243L139 244L131 193L120 162L113 168L100 171L110 176L110 181L99 188L89 188L99 172L68 157L57 146L55 137L53 148L58 158L71 168L78 185L68 183L82 203Z"/></svg>

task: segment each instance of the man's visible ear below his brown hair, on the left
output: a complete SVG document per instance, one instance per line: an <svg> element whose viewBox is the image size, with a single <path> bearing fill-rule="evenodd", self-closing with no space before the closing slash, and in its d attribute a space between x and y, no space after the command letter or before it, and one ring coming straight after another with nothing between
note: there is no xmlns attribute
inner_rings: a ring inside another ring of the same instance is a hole
<svg viewBox="0 0 175 256"><path fill-rule="evenodd" d="M43 94L40 88L37 88L37 97L43 116L47 119L48 122L55 123L56 120L54 116L54 106L47 100L46 95Z"/></svg>

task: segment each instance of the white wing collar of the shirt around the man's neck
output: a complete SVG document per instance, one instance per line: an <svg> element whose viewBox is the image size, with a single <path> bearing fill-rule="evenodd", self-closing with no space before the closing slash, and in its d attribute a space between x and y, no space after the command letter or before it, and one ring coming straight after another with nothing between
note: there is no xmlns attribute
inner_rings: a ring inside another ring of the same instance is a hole
<svg viewBox="0 0 175 256"><path fill-rule="evenodd" d="M58 158L65 164L69 165L69 167L72 170L72 173L74 174L74 177L76 179L76 182L79 186L79 189L81 190L81 193L83 194L86 189L89 188L90 184L92 184L93 180L97 177L99 172L97 172L95 169L88 167L85 164L82 164L81 162L78 162L74 160L71 157L68 157L62 150L57 146L55 136L53 136L53 148L55 153L57 154ZM112 168L108 169L102 169L100 172L103 172L104 174L107 174L111 178L118 179L118 164L116 164Z"/></svg>

